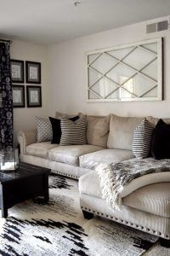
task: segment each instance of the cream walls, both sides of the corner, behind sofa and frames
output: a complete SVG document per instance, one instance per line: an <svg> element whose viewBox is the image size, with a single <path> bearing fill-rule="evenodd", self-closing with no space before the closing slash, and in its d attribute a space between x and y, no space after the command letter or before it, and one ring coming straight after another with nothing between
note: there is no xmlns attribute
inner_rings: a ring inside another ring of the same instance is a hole
<svg viewBox="0 0 170 256"><path fill-rule="evenodd" d="M164 38L162 102L86 102L85 52L148 38ZM145 34L145 23L100 32L61 44L42 46L14 40L12 59L42 63L42 108L14 108L14 144L19 130L34 129L34 117L65 113L116 113L124 116L170 117L170 32ZM25 83L26 85L26 83Z"/></svg>

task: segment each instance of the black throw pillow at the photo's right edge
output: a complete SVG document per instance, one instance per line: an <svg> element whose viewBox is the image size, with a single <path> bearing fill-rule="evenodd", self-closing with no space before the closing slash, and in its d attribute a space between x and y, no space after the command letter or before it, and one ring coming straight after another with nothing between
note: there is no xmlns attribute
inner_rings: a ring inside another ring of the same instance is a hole
<svg viewBox="0 0 170 256"><path fill-rule="evenodd" d="M151 154L156 160L170 159L170 125L160 119L153 133Z"/></svg>

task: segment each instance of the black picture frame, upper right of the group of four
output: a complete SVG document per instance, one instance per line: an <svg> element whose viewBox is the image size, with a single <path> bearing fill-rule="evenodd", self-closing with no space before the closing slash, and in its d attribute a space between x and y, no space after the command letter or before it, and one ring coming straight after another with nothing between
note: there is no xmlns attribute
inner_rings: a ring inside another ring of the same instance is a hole
<svg viewBox="0 0 170 256"><path fill-rule="evenodd" d="M26 61L26 84L41 84L41 63Z"/></svg>

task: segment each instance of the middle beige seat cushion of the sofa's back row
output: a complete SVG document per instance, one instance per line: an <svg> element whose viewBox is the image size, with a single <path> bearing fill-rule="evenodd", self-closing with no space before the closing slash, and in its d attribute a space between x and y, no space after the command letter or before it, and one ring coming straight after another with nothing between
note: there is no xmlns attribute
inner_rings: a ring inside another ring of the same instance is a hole
<svg viewBox="0 0 170 256"><path fill-rule="evenodd" d="M79 166L79 157L82 154L92 153L103 148L94 145L70 145L59 146L49 150L48 159L65 163L71 166Z"/></svg>

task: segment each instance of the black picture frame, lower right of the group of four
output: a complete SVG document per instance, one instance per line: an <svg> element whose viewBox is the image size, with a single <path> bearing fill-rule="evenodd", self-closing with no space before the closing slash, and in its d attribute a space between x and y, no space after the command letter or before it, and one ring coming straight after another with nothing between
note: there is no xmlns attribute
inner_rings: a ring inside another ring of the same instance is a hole
<svg viewBox="0 0 170 256"><path fill-rule="evenodd" d="M42 87L26 85L26 102L27 108L42 107Z"/></svg>

